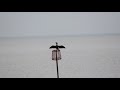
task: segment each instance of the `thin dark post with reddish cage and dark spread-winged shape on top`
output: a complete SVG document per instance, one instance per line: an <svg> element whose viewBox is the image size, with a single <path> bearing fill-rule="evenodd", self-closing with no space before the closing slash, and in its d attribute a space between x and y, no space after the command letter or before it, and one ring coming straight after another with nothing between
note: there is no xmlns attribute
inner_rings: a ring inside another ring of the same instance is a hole
<svg viewBox="0 0 120 90"><path fill-rule="evenodd" d="M60 48L65 48L65 47L63 45L58 45L57 42L56 42L56 45L52 45L50 47L50 49L55 49L52 51L52 60L56 61L57 78L59 78L58 60L61 60Z"/></svg>

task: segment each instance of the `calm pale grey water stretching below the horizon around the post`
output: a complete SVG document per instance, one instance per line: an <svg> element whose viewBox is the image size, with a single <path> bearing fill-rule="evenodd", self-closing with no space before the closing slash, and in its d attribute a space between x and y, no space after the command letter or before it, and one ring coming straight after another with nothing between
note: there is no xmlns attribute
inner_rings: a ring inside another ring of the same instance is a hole
<svg viewBox="0 0 120 90"><path fill-rule="evenodd" d="M66 46L59 61L61 78L120 77L120 36L1 38L0 77L56 78L49 47Z"/></svg>

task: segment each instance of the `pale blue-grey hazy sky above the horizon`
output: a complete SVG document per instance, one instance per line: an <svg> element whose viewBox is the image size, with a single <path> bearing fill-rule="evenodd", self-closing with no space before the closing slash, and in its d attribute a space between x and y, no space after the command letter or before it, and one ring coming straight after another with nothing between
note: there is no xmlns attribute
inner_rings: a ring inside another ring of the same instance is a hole
<svg viewBox="0 0 120 90"><path fill-rule="evenodd" d="M0 12L0 36L120 33L120 12Z"/></svg>

